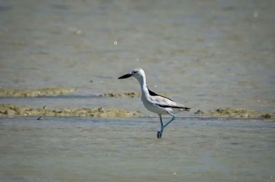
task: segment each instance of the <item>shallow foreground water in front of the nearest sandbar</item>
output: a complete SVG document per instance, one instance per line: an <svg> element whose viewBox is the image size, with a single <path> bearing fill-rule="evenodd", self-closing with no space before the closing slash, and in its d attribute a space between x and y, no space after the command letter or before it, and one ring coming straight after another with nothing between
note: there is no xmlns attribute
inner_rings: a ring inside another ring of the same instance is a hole
<svg viewBox="0 0 275 182"><path fill-rule="evenodd" d="M0 181L274 181L275 122L1 118Z"/></svg>

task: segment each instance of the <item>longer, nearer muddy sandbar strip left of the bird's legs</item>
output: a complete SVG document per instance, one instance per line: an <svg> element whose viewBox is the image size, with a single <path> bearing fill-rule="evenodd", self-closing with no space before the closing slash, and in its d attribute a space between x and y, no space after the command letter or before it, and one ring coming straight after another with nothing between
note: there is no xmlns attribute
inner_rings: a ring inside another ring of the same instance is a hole
<svg viewBox="0 0 275 182"><path fill-rule="evenodd" d="M79 116L79 117L137 117L137 111L124 111L118 109L79 108L50 110L43 108L30 108L14 104L0 104L0 116Z"/></svg>

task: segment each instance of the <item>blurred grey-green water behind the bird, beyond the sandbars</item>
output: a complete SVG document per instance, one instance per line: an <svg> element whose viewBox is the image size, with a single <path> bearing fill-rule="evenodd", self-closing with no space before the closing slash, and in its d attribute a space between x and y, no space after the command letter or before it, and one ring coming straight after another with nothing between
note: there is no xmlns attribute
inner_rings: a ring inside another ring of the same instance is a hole
<svg viewBox="0 0 275 182"><path fill-rule="evenodd" d="M151 89L195 110L274 112L274 10L272 0L1 0L0 87L140 91L117 78L141 67Z"/></svg>

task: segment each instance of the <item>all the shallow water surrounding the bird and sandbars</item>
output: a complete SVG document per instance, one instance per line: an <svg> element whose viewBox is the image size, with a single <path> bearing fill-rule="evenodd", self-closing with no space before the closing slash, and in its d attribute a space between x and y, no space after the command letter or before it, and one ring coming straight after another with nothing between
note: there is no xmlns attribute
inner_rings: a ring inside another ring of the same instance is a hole
<svg viewBox="0 0 275 182"><path fill-rule="evenodd" d="M156 139L157 118L0 118L0 181L274 181L274 122L192 117L241 107L275 113L275 3L1 1L0 87L76 88L0 98L48 109L140 111L135 67L192 108Z"/></svg>

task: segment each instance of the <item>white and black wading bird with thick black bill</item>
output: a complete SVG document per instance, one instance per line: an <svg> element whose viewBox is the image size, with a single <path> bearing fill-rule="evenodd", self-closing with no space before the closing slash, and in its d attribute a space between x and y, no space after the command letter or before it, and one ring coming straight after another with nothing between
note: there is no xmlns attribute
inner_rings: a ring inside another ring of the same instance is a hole
<svg viewBox="0 0 275 182"><path fill-rule="evenodd" d="M162 132L164 128L170 124L173 120L175 120L176 115L179 111L189 111L190 108L184 106L183 104L179 104L169 98L166 98L162 95L158 95L157 93L148 89L146 84L146 76L144 70L141 68L135 68L130 73L125 74L124 76L120 76L118 79L124 79L134 77L140 82L140 87L142 89L142 102L148 111L153 113L157 113L159 115L159 120L161 124L160 130L157 131L157 138L162 137ZM163 124L162 115L171 115L172 119Z"/></svg>

